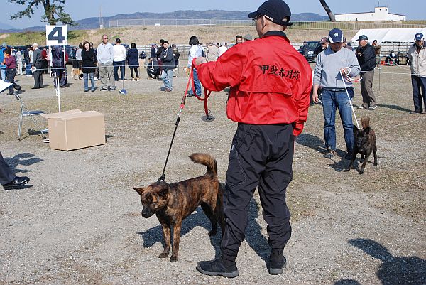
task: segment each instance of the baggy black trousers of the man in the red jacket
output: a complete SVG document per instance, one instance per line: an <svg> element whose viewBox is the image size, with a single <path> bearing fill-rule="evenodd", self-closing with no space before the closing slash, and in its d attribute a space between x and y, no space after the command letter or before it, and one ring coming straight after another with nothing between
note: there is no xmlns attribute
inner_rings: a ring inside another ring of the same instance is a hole
<svg viewBox="0 0 426 285"><path fill-rule="evenodd" d="M285 190L293 178L293 127L239 124L226 172L224 191L225 231L222 257L234 260L245 238L249 203L258 188L267 222L268 243L283 249L291 235L290 211Z"/></svg>

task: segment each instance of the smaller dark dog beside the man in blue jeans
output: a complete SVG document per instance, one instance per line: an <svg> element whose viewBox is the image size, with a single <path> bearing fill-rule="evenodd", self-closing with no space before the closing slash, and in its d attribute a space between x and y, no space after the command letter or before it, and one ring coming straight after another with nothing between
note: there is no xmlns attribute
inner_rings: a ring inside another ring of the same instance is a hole
<svg viewBox="0 0 426 285"><path fill-rule="evenodd" d="M361 118L362 129L358 129L354 125L354 152L352 153L351 163L349 163L346 171L353 168L354 161L356 159L356 154L361 154L361 159L364 159L359 174L364 173L364 168L368 161L368 156L370 156L371 151L374 154L374 163L377 165L377 146L376 146L376 134L374 130L370 127L370 118L362 117Z"/></svg>

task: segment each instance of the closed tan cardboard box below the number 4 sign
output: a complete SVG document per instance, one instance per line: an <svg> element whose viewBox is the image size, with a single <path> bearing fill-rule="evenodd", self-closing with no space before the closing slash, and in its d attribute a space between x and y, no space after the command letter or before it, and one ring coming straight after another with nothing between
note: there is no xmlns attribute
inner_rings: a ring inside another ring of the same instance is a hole
<svg viewBox="0 0 426 285"><path fill-rule="evenodd" d="M48 119L50 149L71 151L105 144L105 115L71 110L43 114Z"/></svg>

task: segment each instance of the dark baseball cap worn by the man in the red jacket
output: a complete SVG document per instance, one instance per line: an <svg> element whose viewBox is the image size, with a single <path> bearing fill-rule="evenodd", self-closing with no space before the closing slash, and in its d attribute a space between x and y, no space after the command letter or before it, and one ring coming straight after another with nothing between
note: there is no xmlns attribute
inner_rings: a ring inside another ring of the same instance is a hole
<svg viewBox="0 0 426 285"><path fill-rule="evenodd" d="M293 25L293 23L289 23L291 17L290 7L283 0L263 2L257 11L249 14L249 18L256 18L257 16L265 16L269 21L278 23L281 26Z"/></svg>

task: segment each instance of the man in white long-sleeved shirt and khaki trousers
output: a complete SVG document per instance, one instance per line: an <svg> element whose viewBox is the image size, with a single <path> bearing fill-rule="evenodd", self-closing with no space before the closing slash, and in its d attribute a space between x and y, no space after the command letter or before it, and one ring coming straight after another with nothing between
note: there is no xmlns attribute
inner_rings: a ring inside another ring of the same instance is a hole
<svg viewBox="0 0 426 285"><path fill-rule="evenodd" d="M97 48L97 62L99 68L99 77L101 78L101 91L116 90L114 81L114 48L108 43L108 36L102 35L102 43ZM109 80L109 85L108 85Z"/></svg>

